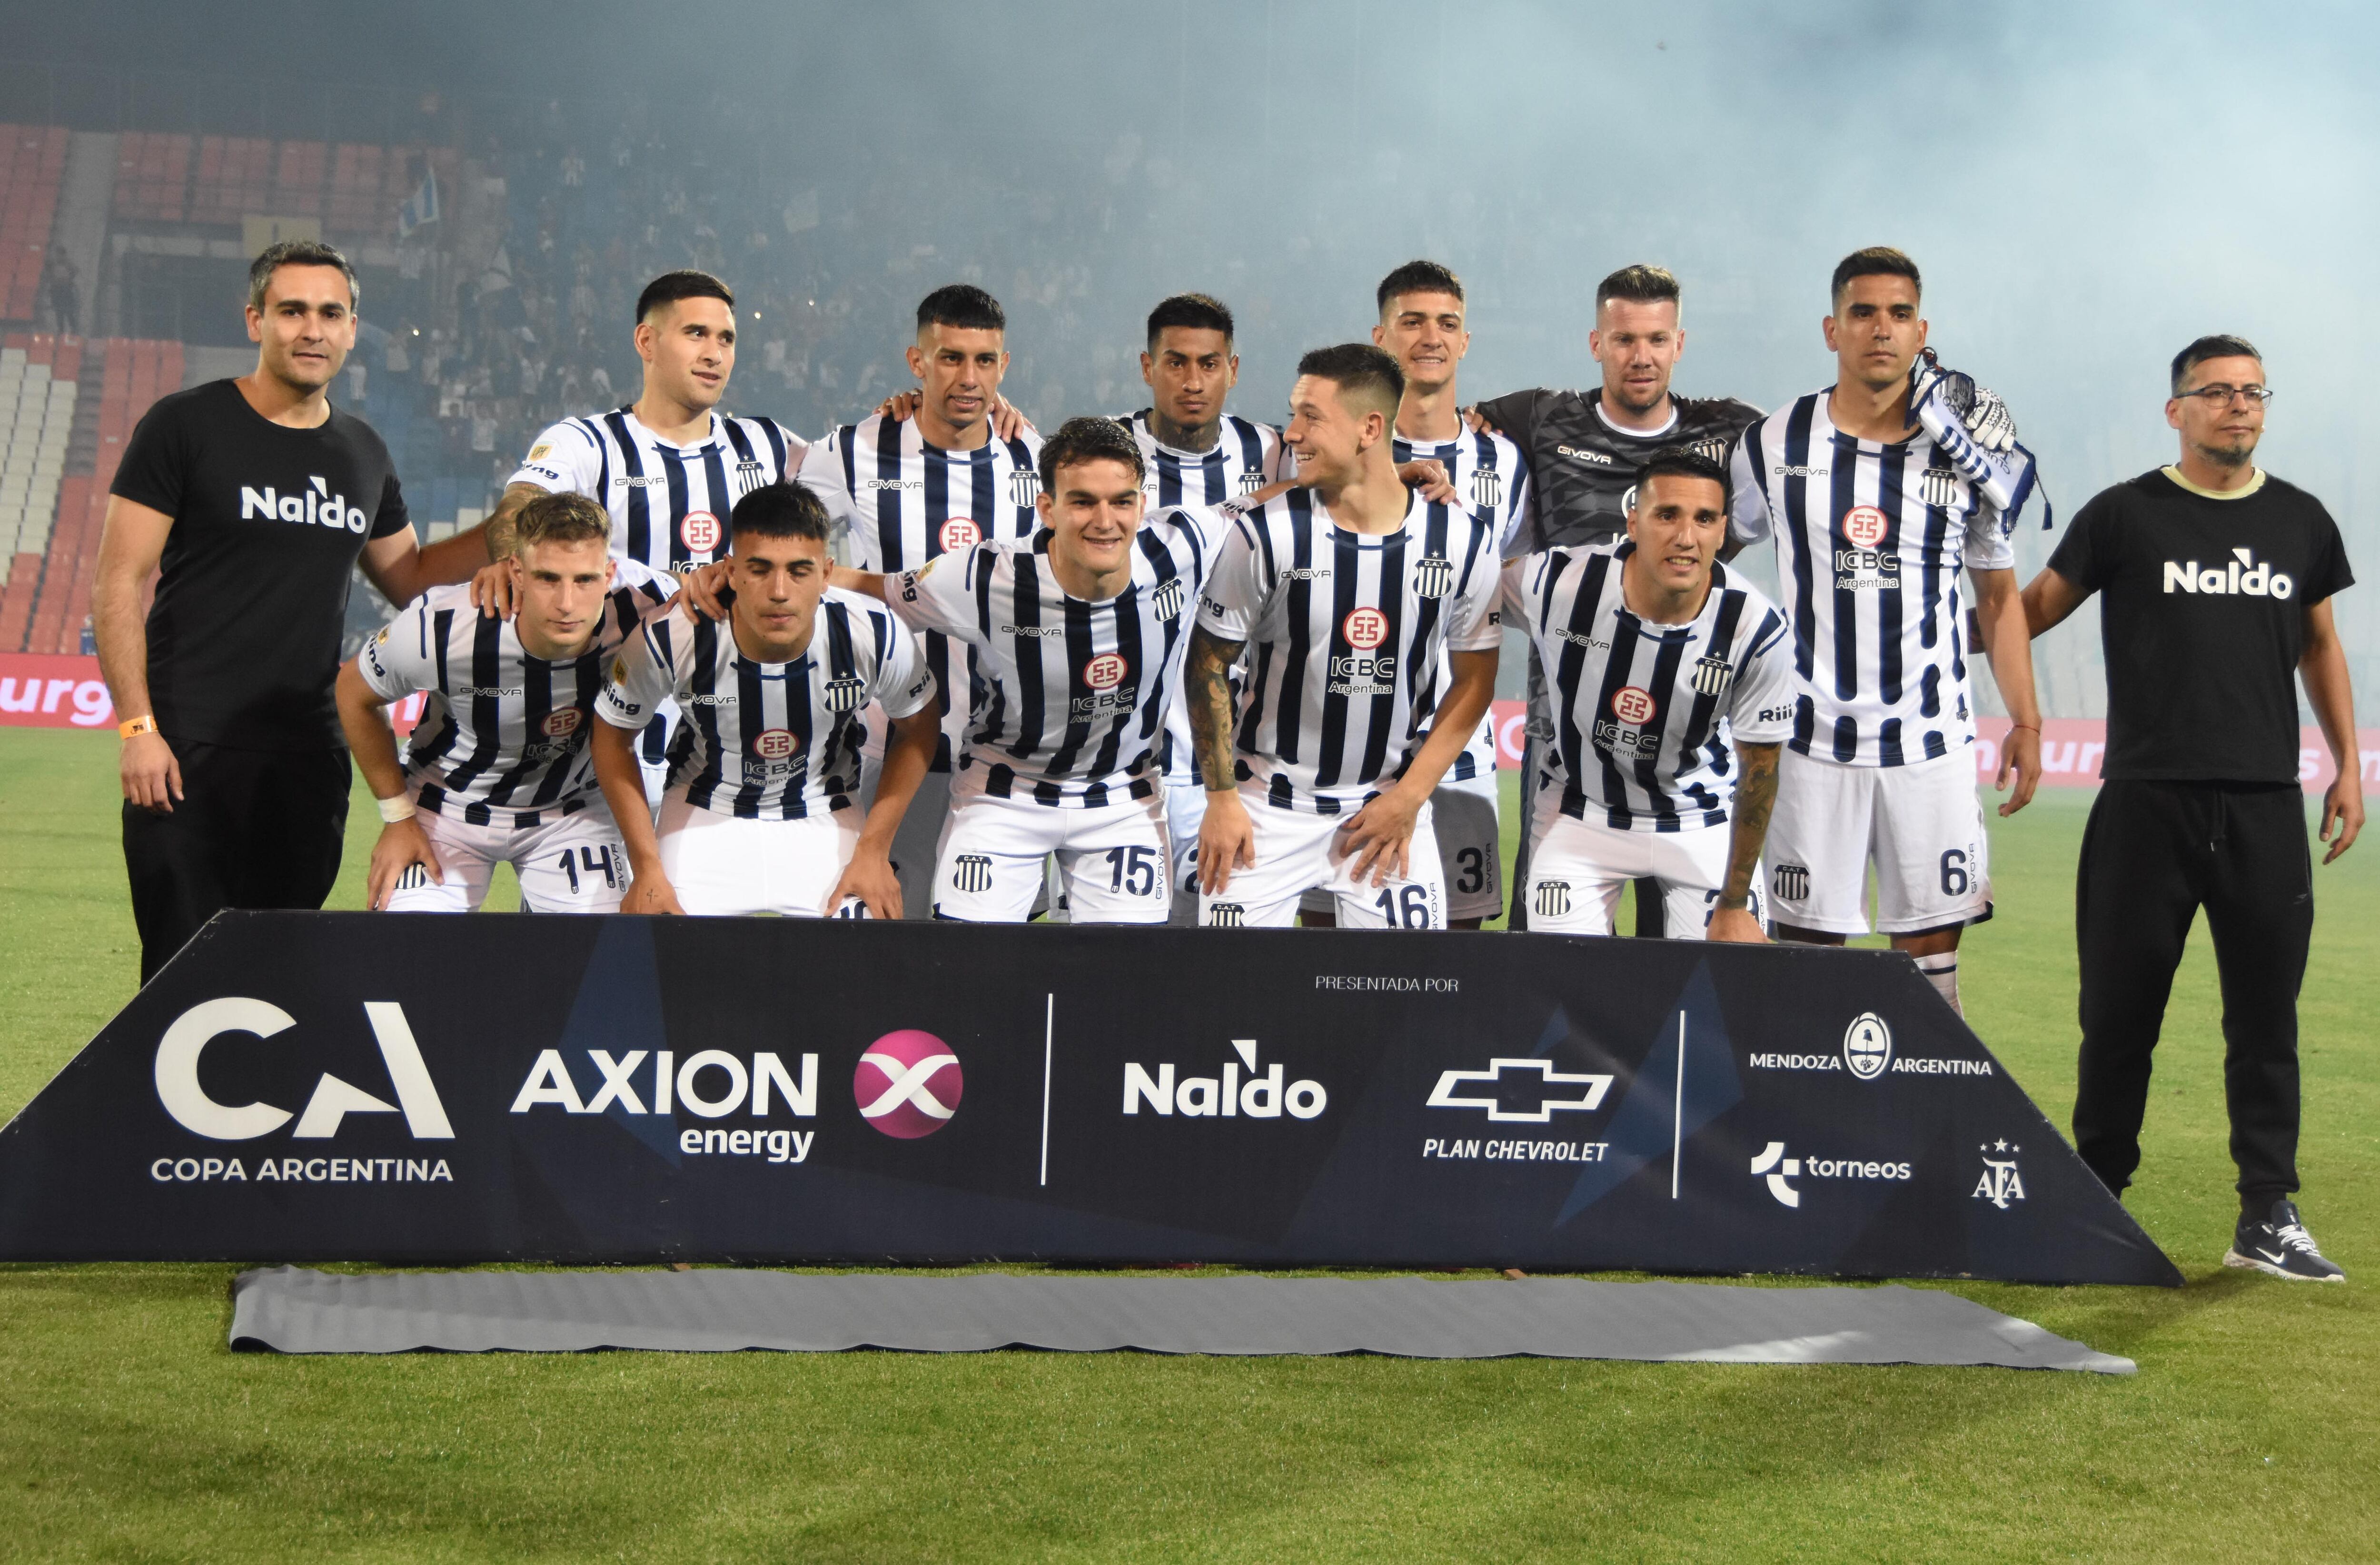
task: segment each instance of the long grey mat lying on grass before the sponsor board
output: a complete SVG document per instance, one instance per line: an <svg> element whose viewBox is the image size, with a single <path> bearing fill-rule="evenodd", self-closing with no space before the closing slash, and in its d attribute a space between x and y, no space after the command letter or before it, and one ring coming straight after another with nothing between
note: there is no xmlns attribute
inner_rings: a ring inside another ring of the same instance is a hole
<svg viewBox="0 0 2380 1565"><path fill-rule="evenodd" d="M1930 1363L2130 1375L2030 1320L1909 1287L1576 1277L240 1272L231 1346L281 1353L1392 1353Z"/></svg>

